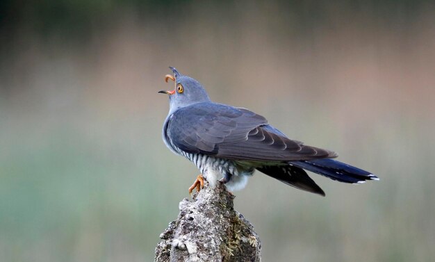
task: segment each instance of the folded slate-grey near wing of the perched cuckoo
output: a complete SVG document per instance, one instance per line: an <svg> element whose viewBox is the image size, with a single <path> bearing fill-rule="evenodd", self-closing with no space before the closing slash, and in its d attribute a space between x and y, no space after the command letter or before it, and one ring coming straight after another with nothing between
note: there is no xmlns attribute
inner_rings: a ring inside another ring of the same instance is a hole
<svg viewBox="0 0 435 262"><path fill-rule="evenodd" d="M295 161L336 156L290 140L261 115L222 104L180 108L170 117L166 135L184 152L233 160Z"/></svg>

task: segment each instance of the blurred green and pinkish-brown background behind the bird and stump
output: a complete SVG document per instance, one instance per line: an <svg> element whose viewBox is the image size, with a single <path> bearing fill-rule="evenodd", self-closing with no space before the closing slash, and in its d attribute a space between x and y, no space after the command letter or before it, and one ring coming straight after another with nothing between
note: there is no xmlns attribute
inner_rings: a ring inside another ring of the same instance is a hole
<svg viewBox="0 0 435 262"><path fill-rule="evenodd" d="M196 168L161 140L174 66L378 174L261 173L263 261L433 261L433 1L0 3L0 261L152 261Z"/></svg>

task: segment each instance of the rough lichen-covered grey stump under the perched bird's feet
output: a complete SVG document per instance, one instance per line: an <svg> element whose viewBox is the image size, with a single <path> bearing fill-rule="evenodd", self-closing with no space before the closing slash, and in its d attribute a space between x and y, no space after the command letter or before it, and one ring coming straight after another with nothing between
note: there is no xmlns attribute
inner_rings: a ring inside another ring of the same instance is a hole
<svg viewBox="0 0 435 262"><path fill-rule="evenodd" d="M177 220L161 234L156 262L261 261L261 243L252 224L233 208L222 183L183 199Z"/></svg>

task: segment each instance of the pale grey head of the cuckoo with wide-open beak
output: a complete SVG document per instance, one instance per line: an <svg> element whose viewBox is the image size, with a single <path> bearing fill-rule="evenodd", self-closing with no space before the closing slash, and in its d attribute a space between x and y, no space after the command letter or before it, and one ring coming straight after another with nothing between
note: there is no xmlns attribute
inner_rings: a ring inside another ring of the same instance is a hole
<svg viewBox="0 0 435 262"><path fill-rule="evenodd" d="M172 69L174 76L167 74L165 76L165 81L167 82L169 79L174 81L175 89L172 91L162 90L159 91L159 93L169 95L170 113L178 108L210 101L206 90L204 90L198 81L189 76L183 76L174 67L169 68Z"/></svg>

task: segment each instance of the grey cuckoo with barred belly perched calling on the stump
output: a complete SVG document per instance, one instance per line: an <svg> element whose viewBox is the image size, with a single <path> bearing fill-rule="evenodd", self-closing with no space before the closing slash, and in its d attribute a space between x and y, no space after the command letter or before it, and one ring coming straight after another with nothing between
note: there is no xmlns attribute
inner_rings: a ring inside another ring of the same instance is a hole
<svg viewBox="0 0 435 262"><path fill-rule="evenodd" d="M220 179L229 190L238 190L255 169L320 195L325 193L303 169L347 183L377 179L330 159L337 156L334 152L287 138L261 115L212 102L198 81L170 68L176 90L161 91L170 97L163 140L192 161L212 186Z"/></svg>

